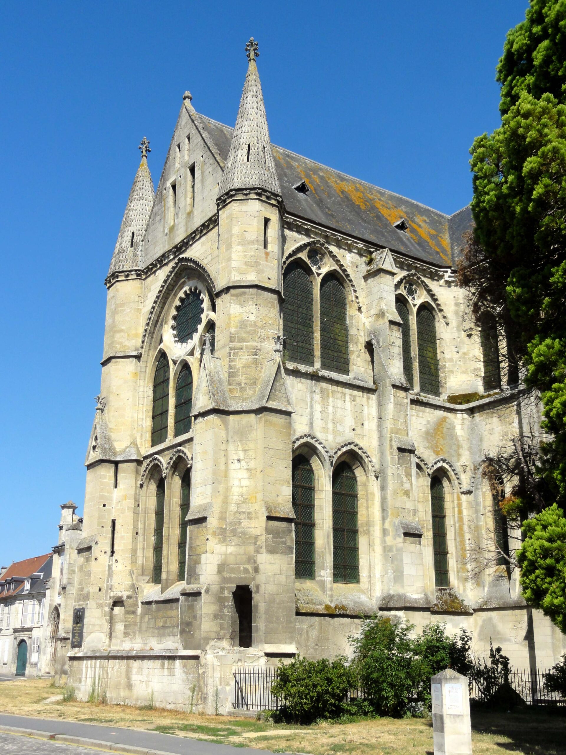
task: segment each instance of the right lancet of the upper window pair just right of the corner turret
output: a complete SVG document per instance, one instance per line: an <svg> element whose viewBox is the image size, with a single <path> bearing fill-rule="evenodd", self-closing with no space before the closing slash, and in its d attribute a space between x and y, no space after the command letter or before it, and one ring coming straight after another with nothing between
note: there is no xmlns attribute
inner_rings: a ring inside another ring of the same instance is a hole
<svg viewBox="0 0 566 755"><path fill-rule="evenodd" d="M323 370L349 374L348 302L336 276L320 287L320 365Z"/></svg>

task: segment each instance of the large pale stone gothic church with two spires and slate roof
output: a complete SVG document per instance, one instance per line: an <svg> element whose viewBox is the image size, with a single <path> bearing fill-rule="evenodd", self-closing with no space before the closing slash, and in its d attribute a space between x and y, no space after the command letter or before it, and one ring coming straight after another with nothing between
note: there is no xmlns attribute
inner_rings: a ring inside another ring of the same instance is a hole
<svg viewBox="0 0 566 755"><path fill-rule="evenodd" d="M534 411L456 284L469 208L273 146L247 51L234 129L187 92L156 192L141 145L82 532L64 512L56 550L54 670L83 698L186 707L193 689L226 710L235 667L347 653L378 612L548 667L561 633L516 573L469 568L512 535L484 454Z"/></svg>

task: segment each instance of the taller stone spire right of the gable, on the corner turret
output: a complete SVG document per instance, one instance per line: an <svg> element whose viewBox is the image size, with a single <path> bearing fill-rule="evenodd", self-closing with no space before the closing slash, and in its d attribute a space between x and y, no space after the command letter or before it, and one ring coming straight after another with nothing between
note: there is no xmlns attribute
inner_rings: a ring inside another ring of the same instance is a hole
<svg viewBox="0 0 566 755"><path fill-rule="evenodd" d="M275 172L260 75L257 72L256 57L259 52L253 37L246 45L246 52L248 74L218 196L238 189L264 189L280 196L281 187Z"/></svg>

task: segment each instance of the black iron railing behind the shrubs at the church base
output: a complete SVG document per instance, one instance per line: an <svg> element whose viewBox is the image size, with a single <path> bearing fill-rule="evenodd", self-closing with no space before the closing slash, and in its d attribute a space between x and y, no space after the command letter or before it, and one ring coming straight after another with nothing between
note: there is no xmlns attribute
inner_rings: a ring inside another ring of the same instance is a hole
<svg viewBox="0 0 566 755"><path fill-rule="evenodd" d="M524 704L566 706L566 699L559 692L551 692L546 688L544 675L543 670L510 669L507 681ZM281 698L271 694L272 684L278 678L277 667L238 667L233 672L233 676L233 704L237 710L278 710L281 707L283 702ZM505 681L505 676L492 677L481 682L470 680L470 700L488 702ZM360 687L351 689L349 692L351 700L360 700L364 697L364 691Z"/></svg>

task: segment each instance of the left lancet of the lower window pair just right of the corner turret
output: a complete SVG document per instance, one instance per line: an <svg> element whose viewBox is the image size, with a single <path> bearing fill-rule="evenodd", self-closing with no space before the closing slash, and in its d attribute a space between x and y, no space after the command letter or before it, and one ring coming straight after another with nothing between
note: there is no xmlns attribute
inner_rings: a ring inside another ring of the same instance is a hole
<svg viewBox="0 0 566 755"><path fill-rule="evenodd" d="M295 513L295 577L315 578L315 473L304 456L293 461L292 496Z"/></svg>

